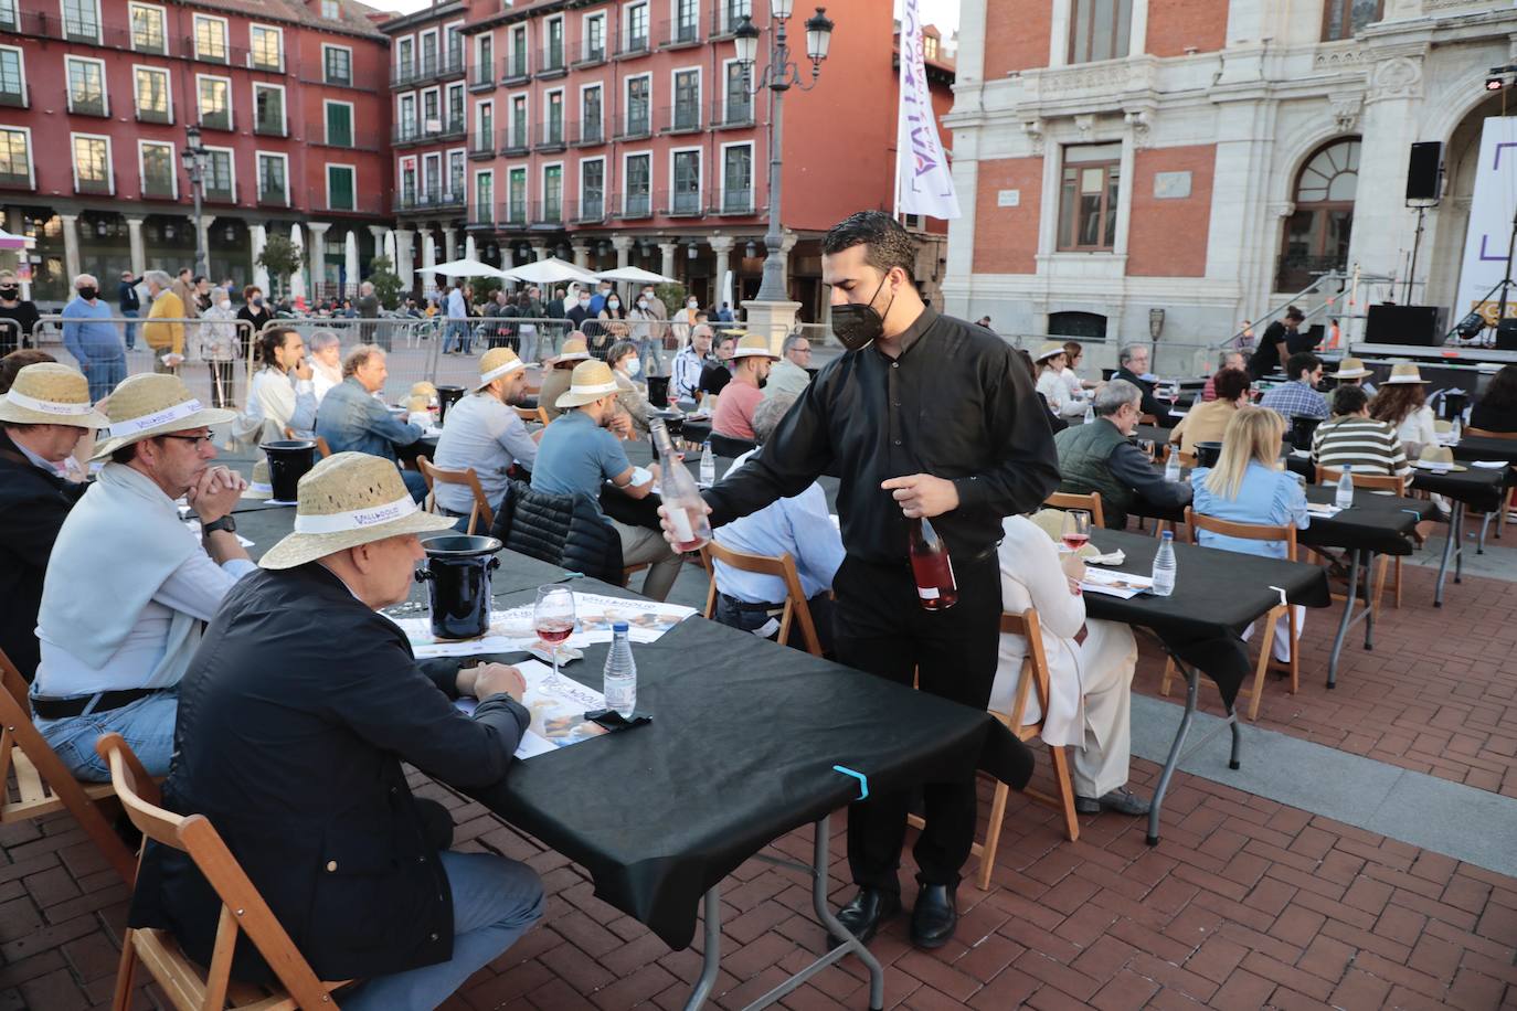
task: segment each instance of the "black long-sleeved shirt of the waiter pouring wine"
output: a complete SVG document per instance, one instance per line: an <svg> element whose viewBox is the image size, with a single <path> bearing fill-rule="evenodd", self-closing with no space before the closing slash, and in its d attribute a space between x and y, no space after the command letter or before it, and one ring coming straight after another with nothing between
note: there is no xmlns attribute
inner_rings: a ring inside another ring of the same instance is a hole
<svg viewBox="0 0 1517 1011"><path fill-rule="evenodd" d="M933 517L948 549L974 558L1001 517L1036 508L1059 484L1048 414L1010 344L924 309L901 355L869 346L830 362L748 464L705 493L711 524L840 479L843 547L860 561L907 558L907 521L880 484L927 473L954 482L959 508Z"/></svg>

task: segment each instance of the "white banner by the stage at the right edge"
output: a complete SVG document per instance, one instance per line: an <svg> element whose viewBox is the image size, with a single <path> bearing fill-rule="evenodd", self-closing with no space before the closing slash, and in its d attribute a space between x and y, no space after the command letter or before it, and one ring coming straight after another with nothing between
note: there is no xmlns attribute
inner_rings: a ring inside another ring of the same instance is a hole
<svg viewBox="0 0 1517 1011"><path fill-rule="evenodd" d="M1471 309L1496 326L1500 294L1491 297L1506 276L1506 249L1512 214L1517 212L1517 117L1491 117L1481 133L1481 162L1475 168L1475 199L1470 229L1464 238L1464 267L1453 320ZM1517 291L1508 291L1506 315L1517 315Z"/></svg>

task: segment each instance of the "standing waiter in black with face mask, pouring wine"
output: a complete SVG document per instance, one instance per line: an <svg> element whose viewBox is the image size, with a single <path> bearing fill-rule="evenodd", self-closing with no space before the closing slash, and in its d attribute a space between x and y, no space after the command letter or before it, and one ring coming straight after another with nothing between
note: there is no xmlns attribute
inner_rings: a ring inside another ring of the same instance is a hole
<svg viewBox="0 0 1517 1011"><path fill-rule="evenodd" d="M705 493L711 524L840 479L846 558L837 594L837 659L983 709L995 679L1001 517L1029 512L1059 484L1047 411L1010 344L939 315L916 293L912 236L889 214L860 211L827 233L824 280L833 332L850 349L806 388L763 449ZM959 602L924 611L909 562L909 517L948 546ZM889 728L881 728L889 732ZM897 876L907 794L848 809L859 894L839 912L868 941L901 908ZM928 784L915 847L921 890L912 941L939 947L957 926L959 870L975 828L972 776Z"/></svg>

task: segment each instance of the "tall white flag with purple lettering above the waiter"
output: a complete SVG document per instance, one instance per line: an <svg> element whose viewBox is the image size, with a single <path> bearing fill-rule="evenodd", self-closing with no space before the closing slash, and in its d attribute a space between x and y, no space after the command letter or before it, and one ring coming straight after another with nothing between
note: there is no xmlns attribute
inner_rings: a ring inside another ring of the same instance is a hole
<svg viewBox="0 0 1517 1011"><path fill-rule="evenodd" d="M959 217L948 158L938 139L938 117L927 92L922 64L922 20L916 0L901 5L901 102L895 133L895 191L898 211L934 218Z"/></svg>

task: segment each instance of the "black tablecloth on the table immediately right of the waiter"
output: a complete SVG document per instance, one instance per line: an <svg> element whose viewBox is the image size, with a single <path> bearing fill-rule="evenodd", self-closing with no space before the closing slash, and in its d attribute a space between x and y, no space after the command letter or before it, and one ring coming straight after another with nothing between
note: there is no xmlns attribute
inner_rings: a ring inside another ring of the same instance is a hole
<svg viewBox="0 0 1517 1011"><path fill-rule="evenodd" d="M1121 549L1127 558L1117 568L1148 574L1159 538L1126 531L1092 531L1091 541L1103 552ZM1174 593L1168 597L1138 594L1130 600L1103 593L1085 594L1085 612L1092 618L1123 621L1151 629L1180 659L1217 682L1227 705L1253 673L1248 650L1239 638L1250 621L1286 600L1308 608L1332 603L1327 574L1318 565L1286 562L1214 547L1176 544Z"/></svg>

